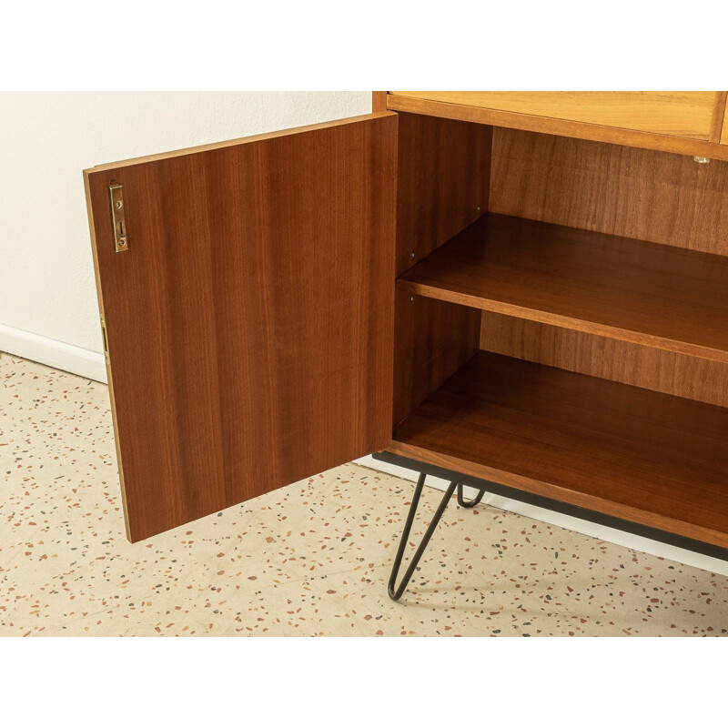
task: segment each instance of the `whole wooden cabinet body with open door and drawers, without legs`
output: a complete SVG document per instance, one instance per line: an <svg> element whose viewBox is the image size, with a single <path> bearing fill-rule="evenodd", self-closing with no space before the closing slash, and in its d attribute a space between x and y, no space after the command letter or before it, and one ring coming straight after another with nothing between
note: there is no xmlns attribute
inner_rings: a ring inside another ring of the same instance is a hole
<svg viewBox="0 0 728 728"><path fill-rule="evenodd" d="M725 93L376 101L86 171L130 539L386 450L728 548Z"/></svg>

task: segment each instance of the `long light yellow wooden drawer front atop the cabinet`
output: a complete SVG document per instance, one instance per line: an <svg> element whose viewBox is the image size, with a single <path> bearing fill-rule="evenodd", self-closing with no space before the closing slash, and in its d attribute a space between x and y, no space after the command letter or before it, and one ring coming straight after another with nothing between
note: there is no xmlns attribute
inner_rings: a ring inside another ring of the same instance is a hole
<svg viewBox="0 0 728 728"><path fill-rule="evenodd" d="M708 139L715 91L392 91L460 106L509 111L655 134ZM723 129L723 143L728 133Z"/></svg>

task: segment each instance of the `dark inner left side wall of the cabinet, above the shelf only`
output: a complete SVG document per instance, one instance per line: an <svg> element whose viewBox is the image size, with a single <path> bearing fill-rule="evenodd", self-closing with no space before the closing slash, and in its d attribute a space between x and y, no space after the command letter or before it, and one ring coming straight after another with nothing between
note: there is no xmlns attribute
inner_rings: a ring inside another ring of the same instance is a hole
<svg viewBox="0 0 728 728"><path fill-rule="evenodd" d="M487 209L491 135L489 126L399 114L398 275Z"/></svg>

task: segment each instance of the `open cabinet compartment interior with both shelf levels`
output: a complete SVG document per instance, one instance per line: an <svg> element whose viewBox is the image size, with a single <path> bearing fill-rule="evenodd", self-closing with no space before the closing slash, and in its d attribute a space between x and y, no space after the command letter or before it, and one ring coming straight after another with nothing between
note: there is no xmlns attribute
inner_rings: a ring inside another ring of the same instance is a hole
<svg viewBox="0 0 728 728"><path fill-rule="evenodd" d="M392 452L728 547L728 163L399 114Z"/></svg>

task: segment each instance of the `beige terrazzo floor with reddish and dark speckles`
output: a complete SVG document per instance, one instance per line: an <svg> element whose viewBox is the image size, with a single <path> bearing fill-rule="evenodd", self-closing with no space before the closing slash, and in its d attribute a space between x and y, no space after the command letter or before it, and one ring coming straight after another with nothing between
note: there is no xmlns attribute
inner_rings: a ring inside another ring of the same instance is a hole
<svg viewBox="0 0 728 728"><path fill-rule="evenodd" d="M130 544L106 386L7 354L0 472L3 636L728 634L724 576L454 500L390 602L413 484L359 465Z"/></svg>

